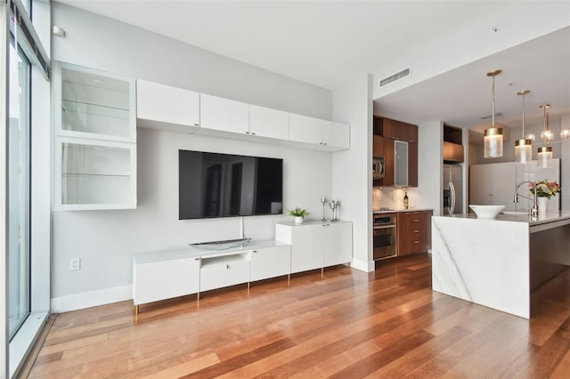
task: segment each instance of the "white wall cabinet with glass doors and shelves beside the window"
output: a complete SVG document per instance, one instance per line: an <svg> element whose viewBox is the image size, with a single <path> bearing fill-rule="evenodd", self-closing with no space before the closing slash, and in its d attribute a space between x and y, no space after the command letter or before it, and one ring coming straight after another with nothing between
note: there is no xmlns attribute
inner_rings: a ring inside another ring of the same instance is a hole
<svg viewBox="0 0 570 379"><path fill-rule="evenodd" d="M56 62L53 208L136 207L134 79Z"/></svg>

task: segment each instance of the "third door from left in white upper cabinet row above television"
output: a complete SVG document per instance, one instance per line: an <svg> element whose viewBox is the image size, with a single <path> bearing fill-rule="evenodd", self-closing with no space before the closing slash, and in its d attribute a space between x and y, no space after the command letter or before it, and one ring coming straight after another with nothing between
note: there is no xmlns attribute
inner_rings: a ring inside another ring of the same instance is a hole
<svg viewBox="0 0 570 379"><path fill-rule="evenodd" d="M289 113L249 105L249 133L278 140L289 140Z"/></svg>

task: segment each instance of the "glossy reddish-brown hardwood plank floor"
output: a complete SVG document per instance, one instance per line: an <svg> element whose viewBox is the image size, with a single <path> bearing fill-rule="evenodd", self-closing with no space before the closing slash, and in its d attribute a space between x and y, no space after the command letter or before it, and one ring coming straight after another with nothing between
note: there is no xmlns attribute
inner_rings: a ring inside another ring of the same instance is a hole
<svg viewBox="0 0 570 379"><path fill-rule="evenodd" d="M570 270L533 319L431 291L428 255L57 316L32 378L532 377L570 373Z"/></svg>

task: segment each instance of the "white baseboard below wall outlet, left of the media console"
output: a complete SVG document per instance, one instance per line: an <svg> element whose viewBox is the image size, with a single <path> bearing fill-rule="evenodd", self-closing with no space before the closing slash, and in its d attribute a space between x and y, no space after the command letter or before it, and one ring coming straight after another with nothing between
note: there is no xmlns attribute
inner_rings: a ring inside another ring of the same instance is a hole
<svg viewBox="0 0 570 379"><path fill-rule="evenodd" d="M52 313L68 312L69 310L83 310L111 302L123 302L133 298L133 286L115 286L98 291L68 294L52 298Z"/></svg>

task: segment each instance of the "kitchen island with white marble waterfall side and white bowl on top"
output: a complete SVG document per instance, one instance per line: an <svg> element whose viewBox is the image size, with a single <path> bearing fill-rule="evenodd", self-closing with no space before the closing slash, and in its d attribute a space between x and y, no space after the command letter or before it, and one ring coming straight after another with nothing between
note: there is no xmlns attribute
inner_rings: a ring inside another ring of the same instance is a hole
<svg viewBox="0 0 570 379"><path fill-rule="evenodd" d="M531 292L570 266L570 212L432 217L432 288L530 319Z"/></svg>

